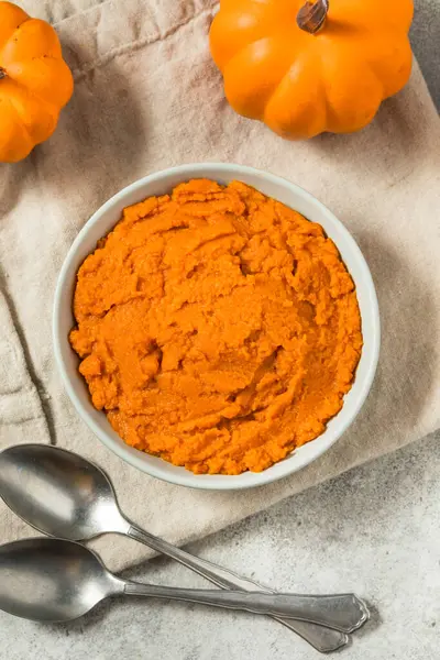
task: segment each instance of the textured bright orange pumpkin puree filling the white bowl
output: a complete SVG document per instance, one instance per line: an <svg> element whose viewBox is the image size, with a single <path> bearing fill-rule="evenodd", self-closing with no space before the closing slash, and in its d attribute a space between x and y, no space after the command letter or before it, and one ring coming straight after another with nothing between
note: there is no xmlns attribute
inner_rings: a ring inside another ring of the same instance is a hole
<svg viewBox="0 0 440 660"><path fill-rule="evenodd" d="M242 183L123 211L78 272L70 342L123 440L196 473L260 472L322 433L361 350L319 224Z"/></svg>

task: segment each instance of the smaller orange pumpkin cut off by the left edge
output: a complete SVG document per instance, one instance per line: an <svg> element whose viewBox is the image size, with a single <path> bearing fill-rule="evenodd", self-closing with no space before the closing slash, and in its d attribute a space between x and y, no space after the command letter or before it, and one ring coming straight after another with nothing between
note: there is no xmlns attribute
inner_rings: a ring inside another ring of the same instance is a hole
<svg viewBox="0 0 440 660"><path fill-rule="evenodd" d="M54 29L0 2L0 162L21 161L47 140L73 89Z"/></svg>

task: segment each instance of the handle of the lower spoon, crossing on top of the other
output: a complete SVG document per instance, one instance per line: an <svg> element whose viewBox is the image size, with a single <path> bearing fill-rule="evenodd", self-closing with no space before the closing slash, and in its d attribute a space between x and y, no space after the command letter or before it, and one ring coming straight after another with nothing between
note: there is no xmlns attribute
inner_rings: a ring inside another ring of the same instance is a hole
<svg viewBox="0 0 440 660"><path fill-rule="evenodd" d="M297 594L265 594L263 592L221 592L202 588L176 588L135 582L127 582L124 593L134 596L186 601L228 609L245 609L254 614L286 616L300 622L329 626L341 632L352 632L367 618L365 607L353 594L301 596Z"/></svg>

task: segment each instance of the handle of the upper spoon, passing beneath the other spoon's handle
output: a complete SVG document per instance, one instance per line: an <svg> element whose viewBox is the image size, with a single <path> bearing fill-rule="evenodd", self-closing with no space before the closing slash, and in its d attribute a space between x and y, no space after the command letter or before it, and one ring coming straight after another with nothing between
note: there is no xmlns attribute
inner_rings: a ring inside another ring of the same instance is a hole
<svg viewBox="0 0 440 660"><path fill-rule="evenodd" d="M250 580L249 578L243 578L238 573L219 566L218 564L215 564L205 559L200 559L199 557L195 557L189 552L182 550L180 548L176 548L167 541L144 531L143 529L139 528L133 524L131 524L128 535L131 538L141 541L145 546L153 548L157 552L161 552L162 554L166 554L167 557L175 559L179 563L186 565L188 569L191 569L199 575L202 575L204 578L206 578L213 584L217 584L221 588L238 588L240 591L256 590L266 593L275 593L273 590L270 590L266 586L262 586L261 584L253 580ZM294 622L292 619L283 619L280 617L273 618L275 618L278 623L283 624L297 635L299 635L310 646L312 646L317 651L320 651L321 653L336 651L341 647L345 646L349 641L349 638L345 634L340 632L338 630L332 630L330 628L326 628L323 626L318 626L305 622Z"/></svg>

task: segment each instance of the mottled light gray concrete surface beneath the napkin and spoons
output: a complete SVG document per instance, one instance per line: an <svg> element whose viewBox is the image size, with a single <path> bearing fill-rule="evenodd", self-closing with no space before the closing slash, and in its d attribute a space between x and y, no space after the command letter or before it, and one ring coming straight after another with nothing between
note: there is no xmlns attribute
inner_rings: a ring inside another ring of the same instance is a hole
<svg viewBox="0 0 440 660"><path fill-rule="evenodd" d="M416 55L440 107L440 1L418 0ZM440 658L440 436L307 491L189 550L286 591L355 591L372 620L344 660ZM164 514L165 515L165 514ZM128 576L206 586L156 560ZM264 617L116 601L80 622L42 626L0 613L4 660L312 660Z"/></svg>

